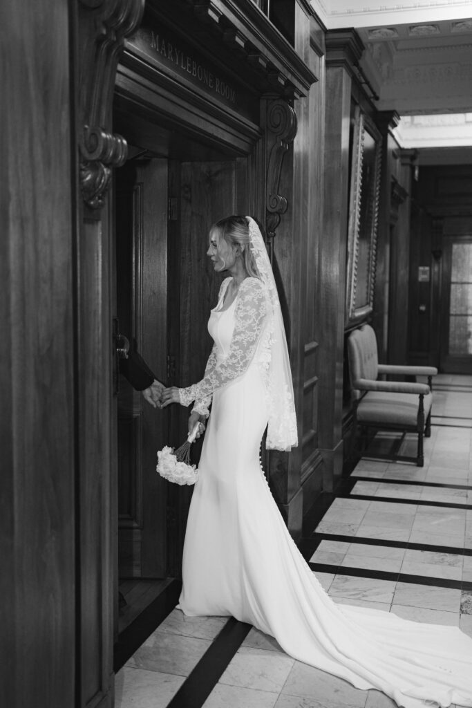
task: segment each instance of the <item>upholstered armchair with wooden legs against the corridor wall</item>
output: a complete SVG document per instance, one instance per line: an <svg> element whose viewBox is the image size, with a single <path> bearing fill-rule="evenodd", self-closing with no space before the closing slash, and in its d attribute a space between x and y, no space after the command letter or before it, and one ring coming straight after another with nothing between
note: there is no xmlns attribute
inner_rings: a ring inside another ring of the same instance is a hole
<svg viewBox="0 0 472 708"><path fill-rule="evenodd" d="M378 430L399 430L418 434L415 457L376 455L387 459L424 465L423 435L431 435L432 377L431 366L396 366L379 364L375 332L364 324L353 330L347 340L351 396L357 426ZM427 376L427 384L379 380L381 375ZM403 439L403 438L402 438Z"/></svg>

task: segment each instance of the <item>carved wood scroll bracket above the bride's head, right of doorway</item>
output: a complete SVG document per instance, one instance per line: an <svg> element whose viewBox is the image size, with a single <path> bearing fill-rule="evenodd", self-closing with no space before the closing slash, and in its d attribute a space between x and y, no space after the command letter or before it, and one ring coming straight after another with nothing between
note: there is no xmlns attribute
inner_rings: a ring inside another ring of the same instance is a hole
<svg viewBox="0 0 472 708"><path fill-rule="evenodd" d="M282 99L272 101L267 108L267 137L273 142L267 163L265 191L265 233L273 239L280 217L287 211L287 198L279 193L282 161L297 135L297 115Z"/></svg>

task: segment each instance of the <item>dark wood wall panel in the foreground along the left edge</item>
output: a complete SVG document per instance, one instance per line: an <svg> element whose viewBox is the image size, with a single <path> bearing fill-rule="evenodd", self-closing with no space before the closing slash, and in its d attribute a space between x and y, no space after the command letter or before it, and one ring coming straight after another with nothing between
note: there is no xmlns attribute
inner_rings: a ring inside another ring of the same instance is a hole
<svg viewBox="0 0 472 708"><path fill-rule="evenodd" d="M0 27L0 704L73 706L69 4L5 3Z"/></svg>

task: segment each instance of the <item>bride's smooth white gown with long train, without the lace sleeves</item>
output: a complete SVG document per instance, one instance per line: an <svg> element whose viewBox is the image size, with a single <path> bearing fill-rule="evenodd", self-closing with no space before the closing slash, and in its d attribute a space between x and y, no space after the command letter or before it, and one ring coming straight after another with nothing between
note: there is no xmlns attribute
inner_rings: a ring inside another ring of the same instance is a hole
<svg viewBox="0 0 472 708"><path fill-rule="evenodd" d="M222 360L234 303L212 311ZM186 615L232 615L277 639L304 663L398 706L472 706L472 640L457 627L410 622L382 610L336 605L284 525L260 467L267 425L257 355L213 394L188 516L179 607Z"/></svg>

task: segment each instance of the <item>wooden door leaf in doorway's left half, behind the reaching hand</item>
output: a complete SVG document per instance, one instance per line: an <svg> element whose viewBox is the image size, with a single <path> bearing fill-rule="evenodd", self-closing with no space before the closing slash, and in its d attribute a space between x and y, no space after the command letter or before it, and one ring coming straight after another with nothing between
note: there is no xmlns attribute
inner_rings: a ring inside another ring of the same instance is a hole
<svg viewBox="0 0 472 708"><path fill-rule="evenodd" d="M117 171L116 288L120 333L166 382L166 159L128 161ZM152 408L120 376L117 401L119 576L167 574L167 484L156 473L168 413Z"/></svg>

